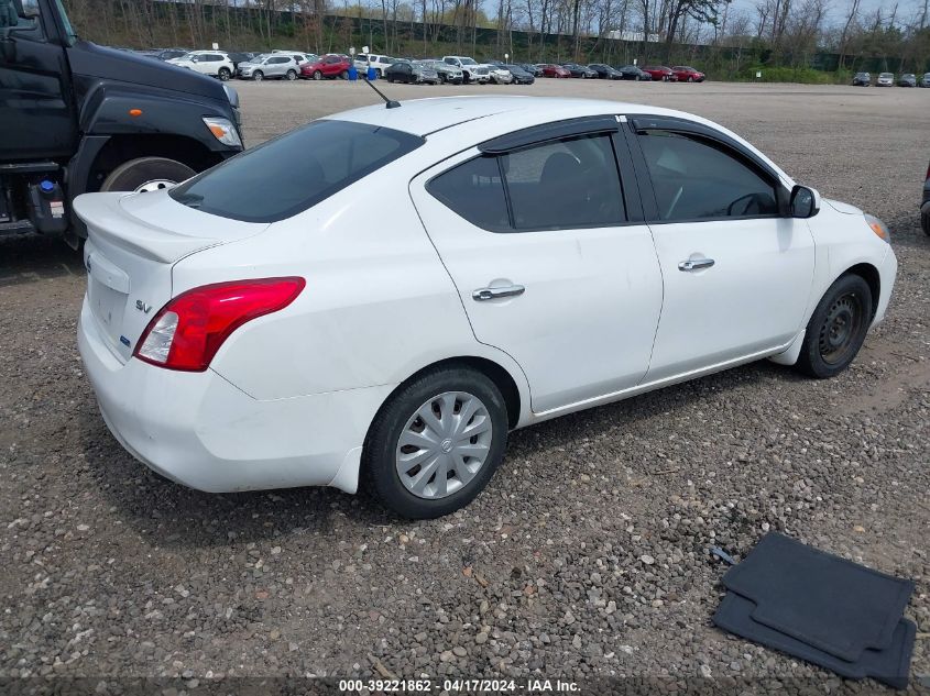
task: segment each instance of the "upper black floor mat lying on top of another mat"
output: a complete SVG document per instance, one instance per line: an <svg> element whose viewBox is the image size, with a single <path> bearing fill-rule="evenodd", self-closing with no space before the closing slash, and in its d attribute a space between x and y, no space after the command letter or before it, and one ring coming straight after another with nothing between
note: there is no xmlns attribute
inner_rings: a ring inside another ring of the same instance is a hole
<svg viewBox="0 0 930 696"><path fill-rule="evenodd" d="M891 644L913 583L766 534L723 576L751 599L752 618L846 662Z"/></svg>

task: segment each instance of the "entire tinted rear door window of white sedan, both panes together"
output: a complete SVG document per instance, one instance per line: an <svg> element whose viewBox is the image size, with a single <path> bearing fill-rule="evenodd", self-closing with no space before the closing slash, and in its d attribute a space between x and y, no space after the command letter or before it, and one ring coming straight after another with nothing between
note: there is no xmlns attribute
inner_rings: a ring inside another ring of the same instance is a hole
<svg viewBox="0 0 930 696"><path fill-rule="evenodd" d="M608 227L626 219L609 135L480 156L435 177L427 190L494 232Z"/></svg>

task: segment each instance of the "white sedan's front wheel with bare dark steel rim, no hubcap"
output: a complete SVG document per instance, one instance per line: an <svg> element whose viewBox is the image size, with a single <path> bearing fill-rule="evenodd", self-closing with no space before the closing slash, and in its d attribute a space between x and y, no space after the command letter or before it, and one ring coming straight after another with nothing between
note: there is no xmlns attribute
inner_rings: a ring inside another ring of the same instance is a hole
<svg viewBox="0 0 930 696"><path fill-rule="evenodd" d="M854 274L824 294L807 325L797 367L817 379L833 377L853 362L872 323L872 290Z"/></svg>

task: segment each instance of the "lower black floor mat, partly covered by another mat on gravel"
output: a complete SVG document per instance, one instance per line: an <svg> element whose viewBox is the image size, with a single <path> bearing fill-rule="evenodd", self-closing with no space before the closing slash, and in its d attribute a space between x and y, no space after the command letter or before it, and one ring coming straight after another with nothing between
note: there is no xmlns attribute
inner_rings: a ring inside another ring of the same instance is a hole
<svg viewBox="0 0 930 696"><path fill-rule="evenodd" d="M910 656L917 632L912 621L900 619L897 622L891 633L891 642L885 650L864 650L857 661L846 662L754 621L752 612L755 608L756 605L752 600L732 592L726 593L713 622L725 631L827 667L842 676L854 680L871 676L895 688L907 688Z"/></svg>

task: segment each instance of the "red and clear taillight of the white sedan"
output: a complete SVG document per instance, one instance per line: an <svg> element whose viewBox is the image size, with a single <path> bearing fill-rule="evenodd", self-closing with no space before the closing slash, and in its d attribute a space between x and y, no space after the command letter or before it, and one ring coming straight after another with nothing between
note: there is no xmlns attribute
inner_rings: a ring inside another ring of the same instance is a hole
<svg viewBox="0 0 930 696"><path fill-rule="evenodd" d="M247 321L280 311L304 289L304 278L259 278L205 285L182 292L155 314L135 345L141 361L203 372Z"/></svg>

